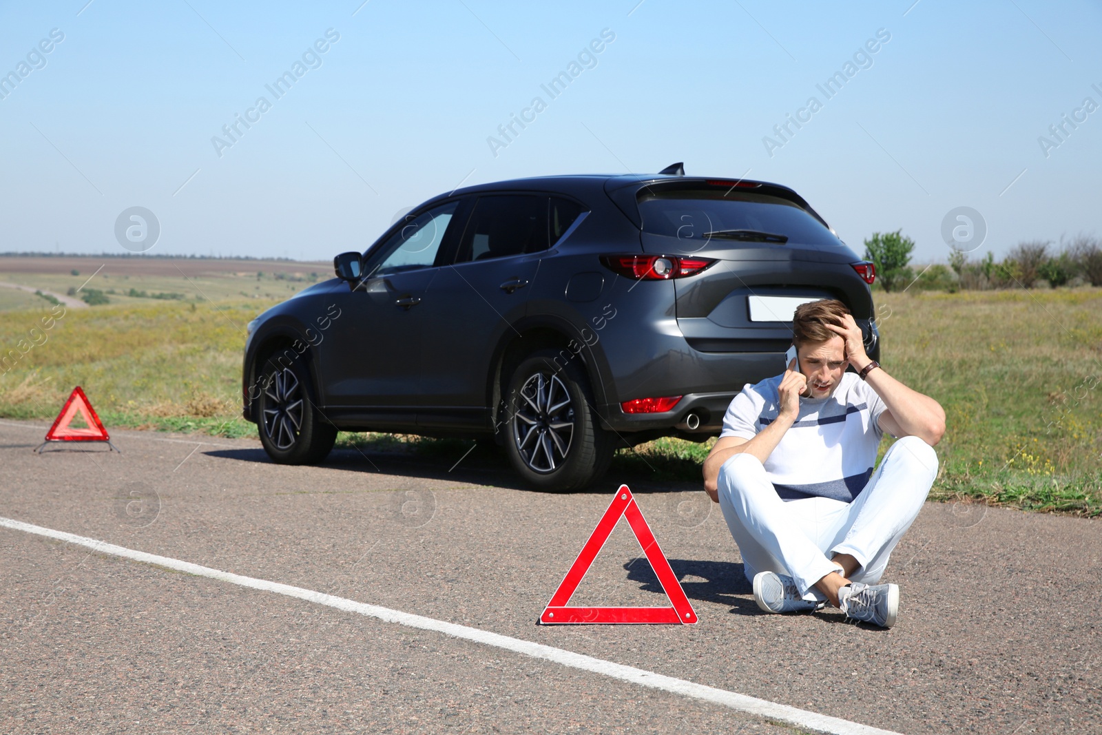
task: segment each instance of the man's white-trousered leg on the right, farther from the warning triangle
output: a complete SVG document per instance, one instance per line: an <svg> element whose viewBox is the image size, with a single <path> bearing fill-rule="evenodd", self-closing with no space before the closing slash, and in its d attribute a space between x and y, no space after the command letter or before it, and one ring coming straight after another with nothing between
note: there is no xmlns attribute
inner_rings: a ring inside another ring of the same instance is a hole
<svg viewBox="0 0 1102 735"><path fill-rule="evenodd" d="M843 566L858 566L853 582L876 584L899 539L918 517L938 476L938 455L917 436L904 436L888 450L865 489L850 504L849 530L831 552ZM849 569L846 571L850 571Z"/></svg>

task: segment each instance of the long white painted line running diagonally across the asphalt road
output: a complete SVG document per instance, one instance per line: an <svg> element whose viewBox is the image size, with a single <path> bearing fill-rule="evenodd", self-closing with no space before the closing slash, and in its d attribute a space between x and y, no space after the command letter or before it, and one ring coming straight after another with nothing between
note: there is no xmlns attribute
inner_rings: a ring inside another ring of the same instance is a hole
<svg viewBox="0 0 1102 735"><path fill-rule="evenodd" d="M123 559L130 559L145 564L153 564L155 566L164 566L165 569L184 572L185 574L205 576L210 580L228 582L229 584L236 584L242 587L250 587L252 590L260 590L263 592L274 592L280 595L287 595L288 597L304 599L309 603L335 607L336 609L345 610L347 613L356 613L358 615L374 617L382 620L383 623L395 623L410 628L433 630L435 633L442 633L445 636L452 636L453 638L462 638L464 640L483 644L485 646L504 648L505 650L509 650L515 653L543 659L544 661L552 661L572 669L590 671L611 679L618 679L619 681L626 681L628 683L648 687L650 689L658 689L672 694L691 696L693 699L731 707L732 710L738 710L759 717L779 720L814 732L832 733L835 735L898 735L898 733L894 733L888 729L869 727L868 725L862 725L860 723L841 720L839 717L830 717L819 714L818 712L809 712L807 710L788 706L787 704L777 704L776 702L770 702L768 700L759 700L755 696L728 692L724 689L705 687L684 679L676 679L673 677L655 673L653 671L636 669L635 667L605 661L604 659L593 658L592 656L585 656L583 653L574 653L573 651L545 646L543 644L533 644L528 640L511 638L509 636L489 633L479 628L471 628L465 625L456 625L455 623L445 623L444 620L436 620L421 615L402 613L401 610L390 609L389 607L380 607L379 605L357 603L356 601L347 599L345 597L336 597L334 595L327 595L313 590L294 587L289 584L269 582L268 580L258 580L251 576L242 576L240 574L234 574L233 572L223 572L209 566L201 566L199 564L193 564L191 562L171 559L169 556L159 556L156 554L145 553L144 551L134 551L133 549L117 547L114 543L107 543L106 541L98 541L96 539L89 539L84 536L76 536L75 533L67 533L65 531L55 531L54 529L43 528L42 526L34 526L32 523L24 523L23 521L13 520L11 518L0 517L0 527L44 536L60 541L67 541L69 543L87 547L88 549L98 551L99 553L121 556Z"/></svg>

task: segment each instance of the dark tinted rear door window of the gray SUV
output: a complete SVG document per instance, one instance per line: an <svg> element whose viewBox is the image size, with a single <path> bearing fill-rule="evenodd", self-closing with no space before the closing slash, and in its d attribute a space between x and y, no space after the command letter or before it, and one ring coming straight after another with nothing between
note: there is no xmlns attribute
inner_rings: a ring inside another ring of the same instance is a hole
<svg viewBox="0 0 1102 735"><path fill-rule="evenodd" d="M539 252L548 247L548 197L480 196L460 240L455 262Z"/></svg>

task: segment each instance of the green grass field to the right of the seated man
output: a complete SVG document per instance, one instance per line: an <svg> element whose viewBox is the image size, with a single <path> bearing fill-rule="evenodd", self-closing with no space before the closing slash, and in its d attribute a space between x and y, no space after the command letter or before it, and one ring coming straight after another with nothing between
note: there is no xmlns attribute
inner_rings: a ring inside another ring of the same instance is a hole
<svg viewBox="0 0 1102 735"><path fill-rule="evenodd" d="M877 304L885 368L946 409L933 497L1102 515L1102 289Z"/></svg>

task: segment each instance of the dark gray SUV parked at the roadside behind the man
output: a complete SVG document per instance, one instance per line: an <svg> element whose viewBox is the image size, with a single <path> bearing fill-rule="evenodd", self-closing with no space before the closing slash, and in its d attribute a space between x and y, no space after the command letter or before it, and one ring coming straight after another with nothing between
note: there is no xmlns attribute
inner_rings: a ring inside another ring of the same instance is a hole
<svg viewBox="0 0 1102 735"><path fill-rule="evenodd" d="M485 439L573 489L618 447L717 434L800 303L842 300L879 356L872 263L792 190L680 164L458 190L334 268L249 325L244 415L274 462L338 430Z"/></svg>

